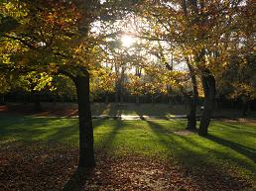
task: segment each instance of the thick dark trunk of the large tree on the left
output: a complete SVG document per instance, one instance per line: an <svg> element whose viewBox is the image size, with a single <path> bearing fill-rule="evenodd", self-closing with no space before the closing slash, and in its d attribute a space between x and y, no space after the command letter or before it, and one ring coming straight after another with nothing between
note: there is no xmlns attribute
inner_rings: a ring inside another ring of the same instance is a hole
<svg viewBox="0 0 256 191"><path fill-rule="evenodd" d="M79 167L95 165L93 128L89 102L89 75L73 78L77 93L79 115Z"/></svg>

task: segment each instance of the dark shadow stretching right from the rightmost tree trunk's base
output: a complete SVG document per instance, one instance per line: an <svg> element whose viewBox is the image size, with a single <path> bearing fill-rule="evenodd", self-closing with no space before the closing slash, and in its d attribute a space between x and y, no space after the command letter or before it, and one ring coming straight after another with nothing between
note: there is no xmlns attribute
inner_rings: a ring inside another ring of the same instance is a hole
<svg viewBox="0 0 256 191"><path fill-rule="evenodd" d="M231 149L239 152L240 154L248 157L249 159L253 160L254 163L256 163L256 149L252 148L252 147L248 147L245 145L242 145L240 143L234 143L234 142L230 142L228 140L223 140L221 138L212 136L212 135L208 135L206 137L206 139L230 147Z"/></svg>

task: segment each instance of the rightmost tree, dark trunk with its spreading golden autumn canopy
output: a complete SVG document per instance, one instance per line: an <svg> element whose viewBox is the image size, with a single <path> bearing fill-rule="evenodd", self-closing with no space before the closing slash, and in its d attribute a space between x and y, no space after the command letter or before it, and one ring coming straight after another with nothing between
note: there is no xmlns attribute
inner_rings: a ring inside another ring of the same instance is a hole
<svg viewBox="0 0 256 191"><path fill-rule="evenodd" d="M144 33L146 39L168 42L174 49L179 49L190 64L191 74L200 76L204 92L204 110L198 130L200 136L207 135L216 94L215 68L223 64L225 57L225 53L221 52L222 43L219 42L225 41L226 35L233 30L232 19L236 18L237 9L243 3L246 4L235 0L184 0L156 1L153 6L152 2L147 1L147 9L141 14L151 21L148 24L150 30ZM194 79L192 83L195 90ZM196 97L196 91L193 95ZM196 99L193 100L195 103ZM194 122L192 124L195 125Z"/></svg>

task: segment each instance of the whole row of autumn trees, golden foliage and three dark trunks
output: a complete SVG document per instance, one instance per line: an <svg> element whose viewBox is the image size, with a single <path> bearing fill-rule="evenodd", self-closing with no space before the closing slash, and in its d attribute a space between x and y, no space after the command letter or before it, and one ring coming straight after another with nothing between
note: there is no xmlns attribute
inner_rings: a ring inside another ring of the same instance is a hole
<svg viewBox="0 0 256 191"><path fill-rule="evenodd" d="M79 166L95 164L90 82L91 89L104 89L106 95L113 88L122 93L125 73L137 95L141 88L171 93L178 87L192 97L189 129L196 127L201 86L200 136L207 135L216 92L246 102L255 97L252 0L10 0L1 1L0 9L2 92L11 83L37 94L46 86L55 89L54 76L71 79L78 103ZM134 44L122 46L124 35ZM174 62L188 69L175 70ZM185 88L188 79L191 87Z"/></svg>

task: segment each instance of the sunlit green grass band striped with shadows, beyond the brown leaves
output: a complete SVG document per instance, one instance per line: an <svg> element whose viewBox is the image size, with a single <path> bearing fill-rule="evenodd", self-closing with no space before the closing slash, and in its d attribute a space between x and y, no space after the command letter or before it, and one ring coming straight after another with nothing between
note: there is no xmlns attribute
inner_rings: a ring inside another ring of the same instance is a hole
<svg viewBox="0 0 256 191"><path fill-rule="evenodd" d="M78 145L77 119L0 116L0 146L10 143ZM239 176L256 176L256 127L213 121L207 138L175 134L186 121L93 121L95 148L114 154L145 154L186 166L219 166Z"/></svg>

